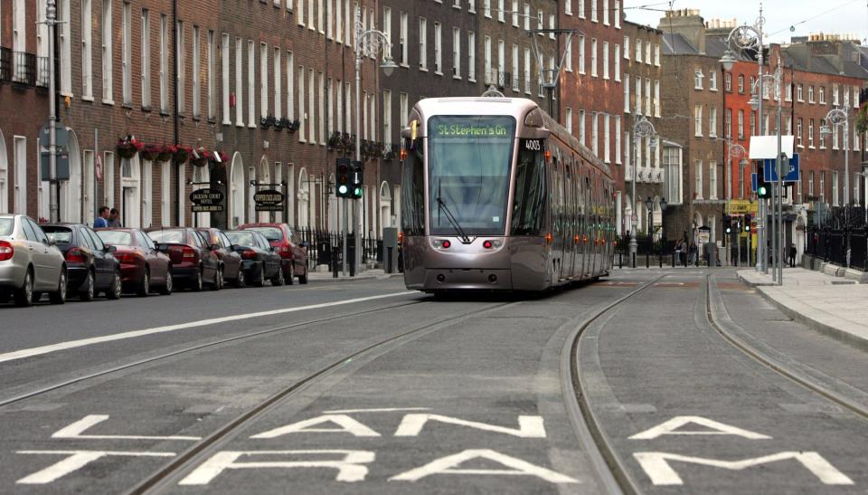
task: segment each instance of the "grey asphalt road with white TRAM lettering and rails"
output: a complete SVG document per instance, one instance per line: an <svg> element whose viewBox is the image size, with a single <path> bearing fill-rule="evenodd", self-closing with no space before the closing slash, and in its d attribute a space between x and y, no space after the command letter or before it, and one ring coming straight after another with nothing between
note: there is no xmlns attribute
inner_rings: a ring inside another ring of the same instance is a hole
<svg viewBox="0 0 868 495"><path fill-rule="evenodd" d="M765 332L773 309L714 277L761 343L844 391L868 387L864 354L792 322ZM0 492L600 493L607 440L615 477L639 491L864 493L865 418L726 342L706 280L620 271L534 298L435 300L390 279L2 306ZM576 331L630 294L571 363ZM571 415L576 386L596 443Z"/></svg>

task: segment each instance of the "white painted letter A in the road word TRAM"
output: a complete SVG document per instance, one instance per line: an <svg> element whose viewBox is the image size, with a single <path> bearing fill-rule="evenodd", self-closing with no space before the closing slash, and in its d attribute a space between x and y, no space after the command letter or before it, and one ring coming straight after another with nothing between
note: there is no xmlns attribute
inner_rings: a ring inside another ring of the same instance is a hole
<svg viewBox="0 0 868 495"><path fill-rule="evenodd" d="M463 462L473 459L487 459L489 461L499 462L508 470L482 470L482 469L458 469L458 466ZM420 481L426 476L432 474L477 474L477 475L498 475L498 476L536 476L544 481L551 483L577 483L569 476L565 476L560 472L555 472L531 464L530 462L522 461L510 457L500 452L495 452L490 449L471 449L463 452L458 452L453 455L441 457L420 468L402 472L401 474L392 476L389 481Z"/></svg>

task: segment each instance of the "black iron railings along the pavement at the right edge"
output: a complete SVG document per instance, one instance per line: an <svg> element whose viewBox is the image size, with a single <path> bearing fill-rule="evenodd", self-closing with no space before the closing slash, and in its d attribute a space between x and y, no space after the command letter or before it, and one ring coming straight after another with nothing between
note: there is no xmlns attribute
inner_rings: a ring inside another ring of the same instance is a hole
<svg viewBox="0 0 868 495"><path fill-rule="evenodd" d="M809 217L805 242L805 252L817 259L868 271L868 229L863 207L835 207Z"/></svg>

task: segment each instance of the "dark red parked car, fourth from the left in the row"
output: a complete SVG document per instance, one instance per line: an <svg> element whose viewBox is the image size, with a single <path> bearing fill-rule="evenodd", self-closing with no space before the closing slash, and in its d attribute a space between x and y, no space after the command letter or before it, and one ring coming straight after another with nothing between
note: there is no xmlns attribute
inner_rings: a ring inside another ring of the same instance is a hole
<svg viewBox="0 0 868 495"><path fill-rule="evenodd" d="M222 264L204 237L190 227L148 229L148 237L172 261L172 277L192 290L208 283L213 290L223 288Z"/></svg>

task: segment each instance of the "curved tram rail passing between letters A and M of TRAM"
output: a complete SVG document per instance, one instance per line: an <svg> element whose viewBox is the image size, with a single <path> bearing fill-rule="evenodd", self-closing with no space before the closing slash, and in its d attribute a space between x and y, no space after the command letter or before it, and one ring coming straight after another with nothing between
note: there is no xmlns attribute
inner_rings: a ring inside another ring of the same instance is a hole
<svg viewBox="0 0 868 495"><path fill-rule="evenodd" d="M575 328L567 337L566 345L561 351L561 389L567 405L567 412L573 430L579 436L579 440L587 448L590 462L594 471L597 472L601 487L606 493L634 494L638 493L638 484L630 478L629 471L621 462L609 435L603 430L597 415L590 406L588 394L581 381L579 370L580 339L593 323L606 316L612 309L618 308L625 301L637 296L644 290L654 287L656 282L663 279L668 273L664 273L645 285L630 291L627 295L611 302L584 319L579 327ZM568 391L570 394L568 394ZM574 397L574 401L566 400Z"/></svg>

